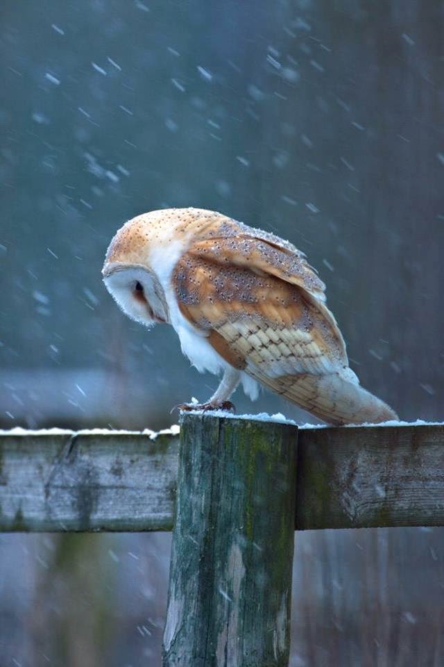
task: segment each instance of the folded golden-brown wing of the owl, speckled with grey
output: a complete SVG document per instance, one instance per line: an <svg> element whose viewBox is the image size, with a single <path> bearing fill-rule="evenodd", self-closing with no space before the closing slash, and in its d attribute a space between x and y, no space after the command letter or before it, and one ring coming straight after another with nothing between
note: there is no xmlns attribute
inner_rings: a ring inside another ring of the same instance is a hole
<svg viewBox="0 0 444 667"><path fill-rule="evenodd" d="M318 379L348 368L341 332L298 254L244 236L197 242L173 272L182 315L225 361L324 418ZM349 370L351 373L351 371Z"/></svg>

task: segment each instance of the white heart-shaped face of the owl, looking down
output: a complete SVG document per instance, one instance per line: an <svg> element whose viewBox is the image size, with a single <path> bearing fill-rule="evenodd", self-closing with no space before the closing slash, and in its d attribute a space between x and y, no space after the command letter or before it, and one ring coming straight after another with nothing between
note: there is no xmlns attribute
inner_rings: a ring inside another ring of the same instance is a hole
<svg viewBox="0 0 444 667"><path fill-rule="evenodd" d="M164 292L155 274L144 265L105 263L103 282L123 313L131 320L152 327L168 322Z"/></svg>

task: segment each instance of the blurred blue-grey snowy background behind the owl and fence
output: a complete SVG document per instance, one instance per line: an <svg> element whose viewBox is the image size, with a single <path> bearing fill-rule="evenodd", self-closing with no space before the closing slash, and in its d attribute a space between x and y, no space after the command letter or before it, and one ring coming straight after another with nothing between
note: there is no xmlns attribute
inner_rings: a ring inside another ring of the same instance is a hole
<svg viewBox="0 0 444 667"><path fill-rule="evenodd" d="M366 388L443 418L441 0L1 8L0 426L169 426L214 377L101 283L167 206L290 238ZM241 411L306 413L264 391ZM0 665L160 666L170 536L0 536ZM444 664L444 531L296 536L292 667Z"/></svg>

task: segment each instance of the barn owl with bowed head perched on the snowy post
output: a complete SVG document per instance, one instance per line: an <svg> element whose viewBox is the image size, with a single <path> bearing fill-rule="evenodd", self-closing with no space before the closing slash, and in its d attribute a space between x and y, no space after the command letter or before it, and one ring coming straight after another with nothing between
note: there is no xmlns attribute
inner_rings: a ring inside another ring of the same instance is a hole
<svg viewBox="0 0 444 667"><path fill-rule="evenodd" d="M200 372L222 374L207 403L182 409L230 406L241 383L335 425L396 418L359 385L323 282L278 236L201 208L151 211L117 231L102 273L126 315L171 324Z"/></svg>

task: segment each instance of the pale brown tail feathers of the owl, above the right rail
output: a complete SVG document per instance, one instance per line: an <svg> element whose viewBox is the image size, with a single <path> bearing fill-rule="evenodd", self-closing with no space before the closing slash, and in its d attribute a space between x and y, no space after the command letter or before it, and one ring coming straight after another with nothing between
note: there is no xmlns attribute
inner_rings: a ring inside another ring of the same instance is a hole
<svg viewBox="0 0 444 667"><path fill-rule="evenodd" d="M329 424L377 424L398 419L390 406L359 385L350 368L326 375L287 375L280 381L284 385L280 394Z"/></svg>

